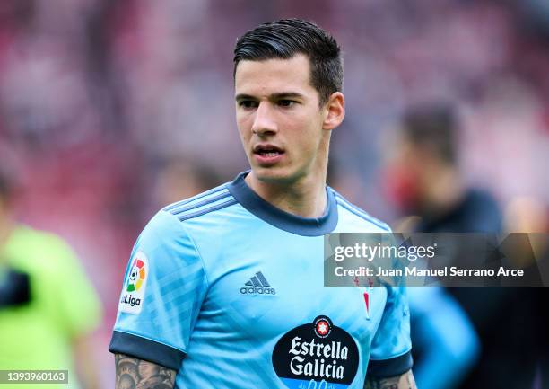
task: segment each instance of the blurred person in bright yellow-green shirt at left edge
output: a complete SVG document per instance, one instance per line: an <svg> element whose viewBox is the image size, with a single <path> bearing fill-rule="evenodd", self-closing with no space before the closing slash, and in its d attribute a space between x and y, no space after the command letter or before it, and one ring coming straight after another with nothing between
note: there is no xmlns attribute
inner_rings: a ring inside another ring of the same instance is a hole
<svg viewBox="0 0 549 389"><path fill-rule="evenodd" d="M0 169L0 370L68 370L68 385L0 386L99 389L87 345L98 296L64 241L14 219L14 190Z"/></svg>

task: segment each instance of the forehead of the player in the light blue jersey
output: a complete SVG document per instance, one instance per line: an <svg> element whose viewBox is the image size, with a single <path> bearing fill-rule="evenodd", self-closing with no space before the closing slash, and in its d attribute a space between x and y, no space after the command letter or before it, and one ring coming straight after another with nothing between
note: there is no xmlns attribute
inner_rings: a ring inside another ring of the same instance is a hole
<svg viewBox="0 0 549 389"><path fill-rule="evenodd" d="M236 94L315 93L310 85L309 69L309 58L303 54L290 59L240 61L234 76Z"/></svg>

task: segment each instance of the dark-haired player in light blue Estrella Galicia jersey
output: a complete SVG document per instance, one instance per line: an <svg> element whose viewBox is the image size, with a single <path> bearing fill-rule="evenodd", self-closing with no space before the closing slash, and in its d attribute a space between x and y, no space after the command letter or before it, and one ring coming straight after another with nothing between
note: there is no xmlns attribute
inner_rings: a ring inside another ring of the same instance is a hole
<svg viewBox="0 0 549 389"><path fill-rule="evenodd" d="M117 388L414 388L405 290L323 286L323 235L387 232L326 186L344 119L335 40L301 20L234 57L250 172L163 208L132 253Z"/></svg>

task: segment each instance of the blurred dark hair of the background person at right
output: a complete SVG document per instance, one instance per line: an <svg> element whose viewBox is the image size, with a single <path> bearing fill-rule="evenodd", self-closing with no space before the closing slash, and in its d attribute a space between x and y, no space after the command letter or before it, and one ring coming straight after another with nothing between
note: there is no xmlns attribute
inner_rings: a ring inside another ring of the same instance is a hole
<svg viewBox="0 0 549 389"><path fill-rule="evenodd" d="M408 108L402 129L406 139L414 145L429 147L446 163L457 163L459 122L449 103L429 102Z"/></svg>

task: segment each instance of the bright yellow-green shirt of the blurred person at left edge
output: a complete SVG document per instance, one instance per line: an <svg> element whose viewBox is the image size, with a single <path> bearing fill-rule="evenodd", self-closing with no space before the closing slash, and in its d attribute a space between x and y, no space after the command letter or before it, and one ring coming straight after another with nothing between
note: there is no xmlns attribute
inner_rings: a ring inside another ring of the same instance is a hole
<svg viewBox="0 0 549 389"><path fill-rule="evenodd" d="M0 247L0 263L6 261L30 275L30 303L0 308L0 370L69 370L69 385L0 388L78 388L73 340L91 332L101 320L100 300L82 266L57 235L22 225Z"/></svg>

